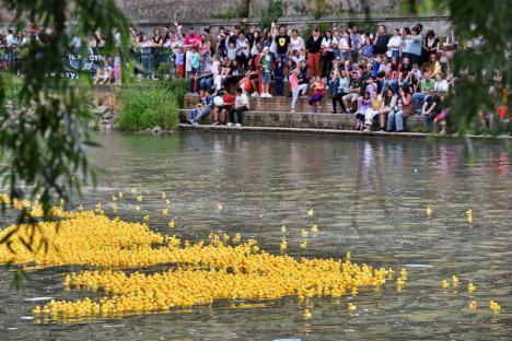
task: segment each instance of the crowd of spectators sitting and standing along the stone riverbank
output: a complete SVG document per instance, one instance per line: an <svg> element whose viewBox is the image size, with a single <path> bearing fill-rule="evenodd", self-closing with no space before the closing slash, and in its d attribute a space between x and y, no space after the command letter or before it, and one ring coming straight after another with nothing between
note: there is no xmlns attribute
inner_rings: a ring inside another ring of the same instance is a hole
<svg viewBox="0 0 512 341"><path fill-rule="evenodd" d="M2 68L18 66L15 51L30 39L48 44L53 34L31 28L0 35ZM120 47L119 33L97 34L73 37L70 50L96 56L107 38ZM427 126L439 125L446 133L447 94L455 91L456 81L451 64L459 48L453 30L441 39L433 30L423 33L421 24L393 32L379 25L376 32L364 32L349 23L346 28L334 25L301 35L272 23L263 31L235 25L213 34L194 27L184 32L175 22L149 35L132 27L129 38L137 79L165 70L168 77L187 80L189 95L198 96L189 114L193 124L212 114L216 125L242 125L249 96L289 96L291 113L299 97L307 97L313 114L352 113L357 130L399 132L407 117L420 115ZM89 63L88 70L97 84L120 84L124 66L117 52L102 63Z"/></svg>

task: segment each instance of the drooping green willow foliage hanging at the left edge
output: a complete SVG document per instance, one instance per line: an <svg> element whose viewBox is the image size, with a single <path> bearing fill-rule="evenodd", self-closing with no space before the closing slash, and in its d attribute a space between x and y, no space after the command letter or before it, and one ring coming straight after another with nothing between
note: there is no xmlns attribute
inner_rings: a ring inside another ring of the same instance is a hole
<svg viewBox="0 0 512 341"><path fill-rule="evenodd" d="M67 30L82 37L101 32L112 36L127 32L128 24L112 0L1 0L13 14L12 26L24 30L38 25L42 32L54 30L50 44L36 39L23 47L24 75L16 99L22 109L7 103L9 84L0 78L0 169L2 186L8 188L11 204L15 199L37 199L43 207L42 219L50 217L50 208L67 201L82 184L93 179L85 146L94 145L83 122L90 111L81 95L70 86L63 73L62 57L70 47ZM67 27L70 24L72 27ZM114 47L114 40L107 40ZM5 209L5 205L3 205ZM27 209L21 211L20 222L33 222ZM32 224L35 233L36 224ZM16 238L16 231L1 243ZM33 245L37 250L47 245Z"/></svg>

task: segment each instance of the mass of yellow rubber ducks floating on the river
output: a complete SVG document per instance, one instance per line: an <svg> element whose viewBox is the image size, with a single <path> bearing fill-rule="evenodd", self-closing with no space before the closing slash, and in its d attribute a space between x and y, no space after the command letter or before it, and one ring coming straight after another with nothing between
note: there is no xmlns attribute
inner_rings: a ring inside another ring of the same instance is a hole
<svg viewBox="0 0 512 341"><path fill-rule="evenodd" d="M137 190L132 190L137 193ZM162 192L161 199L165 207L163 215L170 214L170 201ZM124 198L123 192L110 197L109 207L117 212L117 204ZM143 202L144 196L138 195L137 202ZM8 197L0 196L5 202ZM34 216L42 214L37 203L27 201L15 202L18 208L31 208ZM137 205L137 208L140 207ZM77 317L123 316L133 314L151 314L167 311L181 306L212 304L220 298L238 299L276 299L295 295L299 299L312 296L341 297L357 296L361 289L379 290L386 282L395 280L395 270L374 269L368 264L351 262L350 252L341 259L307 259L296 260L288 255L271 255L263 251L254 239L243 240L242 235L210 234L207 242L190 243L175 235L162 234L149 228L151 216L143 216L143 223L124 222L119 217L108 217L102 203L94 210L86 211L78 207L74 212L56 207L51 213L62 217L59 225L56 222L37 223L35 234L27 225L21 225L10 247L0 246L0 263L13 261L18 264L35 263L43 267L86 266L98 269L117 270L84 270L70 273L63 279L65 290L84 292L103 292L102 298L77 301L51 301L44 306L36 306L33 314L40 319L67 320ZM216 209L222 211L222 204ZM468 211L469 212L469 211ZM429 213L428 213L429 214ZM430 211L430 214L432 212ZM472 213L473 214L473 213ZM314 216L314 210L306 211ZM313 223L313 222L312 222ZM167 227L175 228L174 220ZM0 238L9 234L15 225L0 231ZM60 228L58 228L60 227ZM287 249L287 227L281 226L283 238L281 251ZM301 237L306 238L318 233L318 226L312 224L307 231L301 230ZM33 237L38 240L48 239L55 247L47 252L32 252L23 246L23 240ZM307 247L302 240L301 248ZM58 251L57 251L58 250ZM128 273L123 269L148 268L158 264L174 263L172 269L146 274ZM395 280L396 291L402 292L407 281L407 270L404 268ZM452 284L443 280L442 286L457 286L458 279L452 275ZM469 293L475 292L473 283L467 285ZM476 309L476 301L469 303L470 309ZM499 313L501 307L491 301L489 307ZM353 302L347 304L347 309L357 308ZM312 311L301 311L306 319Z"/></svg>

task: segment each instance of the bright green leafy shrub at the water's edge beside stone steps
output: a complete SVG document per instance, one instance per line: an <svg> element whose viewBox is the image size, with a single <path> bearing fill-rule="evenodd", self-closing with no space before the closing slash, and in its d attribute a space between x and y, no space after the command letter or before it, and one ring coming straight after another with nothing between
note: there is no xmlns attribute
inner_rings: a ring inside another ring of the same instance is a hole
<svg viewBox="0 0 512 341"><path fill-rule="evenodd" d="M176 96L165 87L127 90L121 94L119 129L139 131L155 126L164 130L179 124Z"/></svg>

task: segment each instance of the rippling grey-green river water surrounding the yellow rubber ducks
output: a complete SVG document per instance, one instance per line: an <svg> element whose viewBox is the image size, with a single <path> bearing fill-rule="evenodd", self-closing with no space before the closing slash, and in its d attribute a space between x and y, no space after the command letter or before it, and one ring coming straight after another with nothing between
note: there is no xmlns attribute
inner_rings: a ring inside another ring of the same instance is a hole
<svg viewBox="0 0 512 341"><path fill-rule="evenodd" d="M124 220L172 201L175 233L206 239L240 232L279 252L288 226L289 254L339 258L375 267L406 267L397 293L361 291L352 298L311 298L304 320L296 297L230 307L217 302L167 314L39 325L34 297L74 298L62 291L71 268L31 271L22 291L0 270L0 340L510 340L512 338L512 156L499 142L182 132L153 137L109 133L91 152L101 165L95 190L77 200L93 209L113 193L139 188L118 203ZM219 212L216 207L222 204ZM430 216L426 208L432 209ZM306 211L314 209L315 215ZM472 209L473 223L466 217ZM3 225L10 222L3 222ZM301 228L318 236L299 246ZM163 230L165 222L151 222ZM455 274L456 289L441 280ZM467 283L477 287L470 295ZM478 309L468 304L478 302ZM493 314L489 299L502 310ZM349 311L347 302L358 309ZM43 302L44 303L44 302Z"/></svg>

